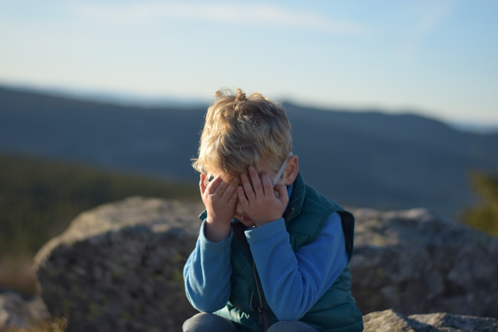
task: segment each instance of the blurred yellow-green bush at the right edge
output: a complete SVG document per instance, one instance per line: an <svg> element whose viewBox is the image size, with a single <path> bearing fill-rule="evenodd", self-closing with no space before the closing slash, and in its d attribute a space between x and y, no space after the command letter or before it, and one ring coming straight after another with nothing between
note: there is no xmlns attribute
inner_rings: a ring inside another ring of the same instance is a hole
<svg viewBox="0 0 498 332"><path fill-rule="evenodd" d="M466 224L498 237L498 174L474 173L474 190L482 198L481 205L464 213Z"/></svg>

